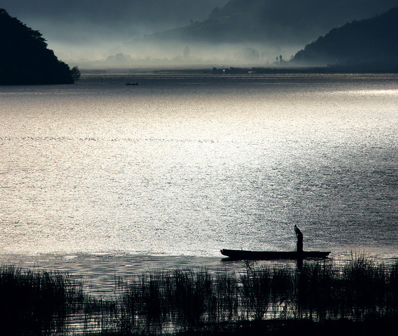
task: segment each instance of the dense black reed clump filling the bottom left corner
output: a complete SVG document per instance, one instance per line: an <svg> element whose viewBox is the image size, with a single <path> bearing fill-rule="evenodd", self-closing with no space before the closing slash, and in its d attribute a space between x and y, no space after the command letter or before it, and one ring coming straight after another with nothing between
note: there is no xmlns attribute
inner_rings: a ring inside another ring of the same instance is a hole
<svg viewBox="0 0 398 336"><path fill-rule="evenodd" d="M0 333L43 335L62 331L85 303L82 287L61 272L0 268Z"/></svg>

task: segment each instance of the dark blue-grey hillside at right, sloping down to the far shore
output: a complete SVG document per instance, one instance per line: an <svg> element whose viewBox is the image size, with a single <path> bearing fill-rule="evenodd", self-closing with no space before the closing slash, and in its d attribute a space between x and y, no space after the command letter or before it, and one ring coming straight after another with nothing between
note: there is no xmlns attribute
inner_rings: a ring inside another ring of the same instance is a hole
<svg viewBox="0 0 398 336"><path fill-rule="evenodd" d="M305 46L292 64L398 66L398 7L330 30Z"/></svg>

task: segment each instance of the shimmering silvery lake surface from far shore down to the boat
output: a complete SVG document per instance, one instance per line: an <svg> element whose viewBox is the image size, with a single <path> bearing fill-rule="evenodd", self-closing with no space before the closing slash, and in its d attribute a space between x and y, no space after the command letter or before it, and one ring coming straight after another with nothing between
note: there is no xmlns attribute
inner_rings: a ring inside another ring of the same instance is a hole
<svg viewBox="0 0 398 336"><path fill-rule="evenodd" d="M85 74L0 102L2 262L218 265L293 250L294 224L396 256L397 75Z"/></svg>

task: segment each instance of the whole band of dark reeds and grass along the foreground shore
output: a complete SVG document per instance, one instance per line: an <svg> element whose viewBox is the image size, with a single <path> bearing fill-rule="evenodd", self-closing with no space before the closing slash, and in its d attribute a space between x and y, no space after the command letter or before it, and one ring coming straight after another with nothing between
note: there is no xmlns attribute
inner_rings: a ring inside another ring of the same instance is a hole
<svg viewBox="0 0 398 336"><path fill-rule="evenodd" d="M174 269L115 276L112 295L66 272L0 267L2 335L373 335L398 319L398 261Z"/></svg>

